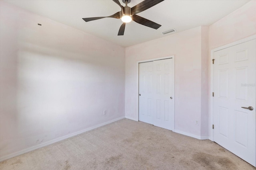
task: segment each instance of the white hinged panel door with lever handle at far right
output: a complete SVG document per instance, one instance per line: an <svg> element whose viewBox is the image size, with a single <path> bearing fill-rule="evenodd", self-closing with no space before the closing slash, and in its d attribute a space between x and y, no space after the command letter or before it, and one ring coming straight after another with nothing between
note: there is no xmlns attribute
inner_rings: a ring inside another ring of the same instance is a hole
<svg viewBox="0 0 256 170"><path fill-rule="evenodd" d="M256 40L214 59L214 141L256 166Z"/></svg>

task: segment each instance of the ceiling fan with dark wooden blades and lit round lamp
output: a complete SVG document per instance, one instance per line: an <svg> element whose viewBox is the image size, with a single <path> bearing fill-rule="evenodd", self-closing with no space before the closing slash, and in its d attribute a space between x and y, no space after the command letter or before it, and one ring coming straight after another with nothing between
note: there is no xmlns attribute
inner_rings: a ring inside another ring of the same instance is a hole
<svg viewBox="0 0 256 170"><path fill-rule="evenodd" d="M121 25L118 35L124 35L124 29L125 29L125 24L130 22L130 21L135 21L139 24L145 25L150 28L158 29L162 25L159 25L158 23L155 23L153 21L147 20L146 18L142 18L136 14L147 10L148 8L151 8L152 6L155 6L156 4L164 1L164 0L144 0L137 4L136 6L130 8L127 6L128 3L131 2L131 0L122 0L122 2L125 3L125 6L122 6L119 2L119 0L113 0L116 2L121 7L121 11L117 12L116 14L113 14L111 16L107 17L92 17L92 18L83 18L84 21L93 21L93 20L98 20L102 18L117 18L121 19L124 23Z"/></svg>

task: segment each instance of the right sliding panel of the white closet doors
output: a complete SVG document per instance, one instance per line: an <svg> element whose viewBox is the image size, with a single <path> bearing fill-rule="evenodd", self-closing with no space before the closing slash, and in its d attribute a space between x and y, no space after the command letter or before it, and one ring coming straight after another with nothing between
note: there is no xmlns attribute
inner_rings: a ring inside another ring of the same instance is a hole
<svg viewBox="0 0 256 170"><path fill-rule="evenodd" d="M173 59L154 61L154 125L174 128L174 72Z"/></svg>

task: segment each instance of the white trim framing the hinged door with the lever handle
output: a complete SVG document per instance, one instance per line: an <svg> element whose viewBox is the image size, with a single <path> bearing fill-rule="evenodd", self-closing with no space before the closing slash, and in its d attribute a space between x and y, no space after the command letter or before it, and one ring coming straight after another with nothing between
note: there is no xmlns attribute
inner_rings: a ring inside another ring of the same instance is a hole
<svg viewBox="0 0 256 170"><path fill-rule="evenodd" d="M245 43L247 41L251 41L253 39L256 39L256 34L255 35L251 35L250 37L246 37L244 39L240 39L238 41L234 41L232 43L223 45L221 47L217 47L215 49L212 49L210 52L210 90L209 90L209 139L211 141L214 141L214 132L212 129L212 125L213 125L213 97L212 97L212 92L213 92L213 79L214 79L214 70L213 70L213 64L212 64L212 59L214 59L214 52L216 51L220 51L222 49L226 49L228 47L232 47L234 45L238 45L238 44L242 44ZM256 63L255 63L256 64Z"/></svg>

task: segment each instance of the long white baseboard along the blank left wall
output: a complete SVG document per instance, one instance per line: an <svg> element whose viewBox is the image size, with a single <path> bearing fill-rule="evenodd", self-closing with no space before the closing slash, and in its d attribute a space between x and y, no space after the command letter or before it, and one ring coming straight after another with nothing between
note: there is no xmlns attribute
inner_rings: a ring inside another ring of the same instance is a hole
<svg viewBox="0 0 256 170"><path fill-rule="evenodd" d="M10 159L10 158L13 158L13 157L15 157L15 156L19 156L19 155L21 155L21 154L30 152L30 151L32 151L32 150L36 150L36 149L45 147L45 146L47 146L47 145L51 145L51 144L53 144L53 143L62 141L62 140L64 140L64 139L68 139L68 138L70 138L70 137L79 135L79 134L84 133L84 132L86 132L86 131L90 131L90 130L92 130L92 129L96 129L96 128L98 128L98 127L107 125L107 124L109 124L109 123L113 123L113 122L118 121L118 120L120 120L120 119L124 119L124 116L123 116L123 117L119 117L119 118L114 119L114 120L107 121L107 122L105 122L105 123L101 123L101 124L96 125L96 126L93 126L93 127L89 127L89 128L87 128L87 129L83 129L83 130L78 131L78 132L75 132L75 133L71 133L71 134L65 135L65 136L63 136L63 137L59 137L59 138L57 138L57 139L53 139L53 140L48 141L48 142L45 142L45 143L41 143L41 144L36 145L36 146L34 146L34 147L30 147L30 148L27 148L27 149L20 150L20 151L18 151L18 152L9 154L9 155L7 155L7 156L3 156L3 157L0 158L0 162L2 162L2 161L4 161L4 160L7 160L7 159Z"/></svg>

